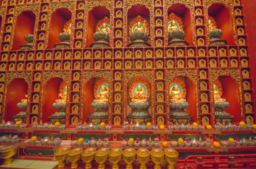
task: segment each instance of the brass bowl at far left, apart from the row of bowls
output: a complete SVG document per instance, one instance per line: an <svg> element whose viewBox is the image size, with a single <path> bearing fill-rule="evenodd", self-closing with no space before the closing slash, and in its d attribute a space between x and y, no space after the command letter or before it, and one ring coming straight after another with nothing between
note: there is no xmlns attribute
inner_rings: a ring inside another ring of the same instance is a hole
<svg viewBox="0 0 256 169"><path fill-rule="evenodd" d="M2 146L0 148L0 158L4 159L3 164L8 164L13 161L13 156L18 152L18 145Z"/></svg>

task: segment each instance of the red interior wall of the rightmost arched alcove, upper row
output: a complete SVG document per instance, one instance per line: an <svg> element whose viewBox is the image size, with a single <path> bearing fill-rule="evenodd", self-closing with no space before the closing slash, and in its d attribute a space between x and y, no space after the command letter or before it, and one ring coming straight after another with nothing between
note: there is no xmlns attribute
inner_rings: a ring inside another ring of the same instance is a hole
<svg viewBox="0 0 256 169"><path fill-rule="evenodd" d="M230 9L221 3L214 3L208 8L208 15L217 23L217 29L223 31L220 39L226 39L228 45L235 44L233 22Z"/></svg>

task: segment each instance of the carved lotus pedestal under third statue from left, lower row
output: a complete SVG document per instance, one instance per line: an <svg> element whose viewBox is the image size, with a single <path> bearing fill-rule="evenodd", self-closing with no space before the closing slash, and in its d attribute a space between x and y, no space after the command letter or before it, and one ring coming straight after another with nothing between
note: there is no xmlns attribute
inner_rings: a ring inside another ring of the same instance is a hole
<svg viewBox="0 0 256 169"><path fill-rule="evenodd" d="M90 123L108 123L109 104L92 102L91 106L95 108L95 112L88 116L88 121Z"/></svg>

